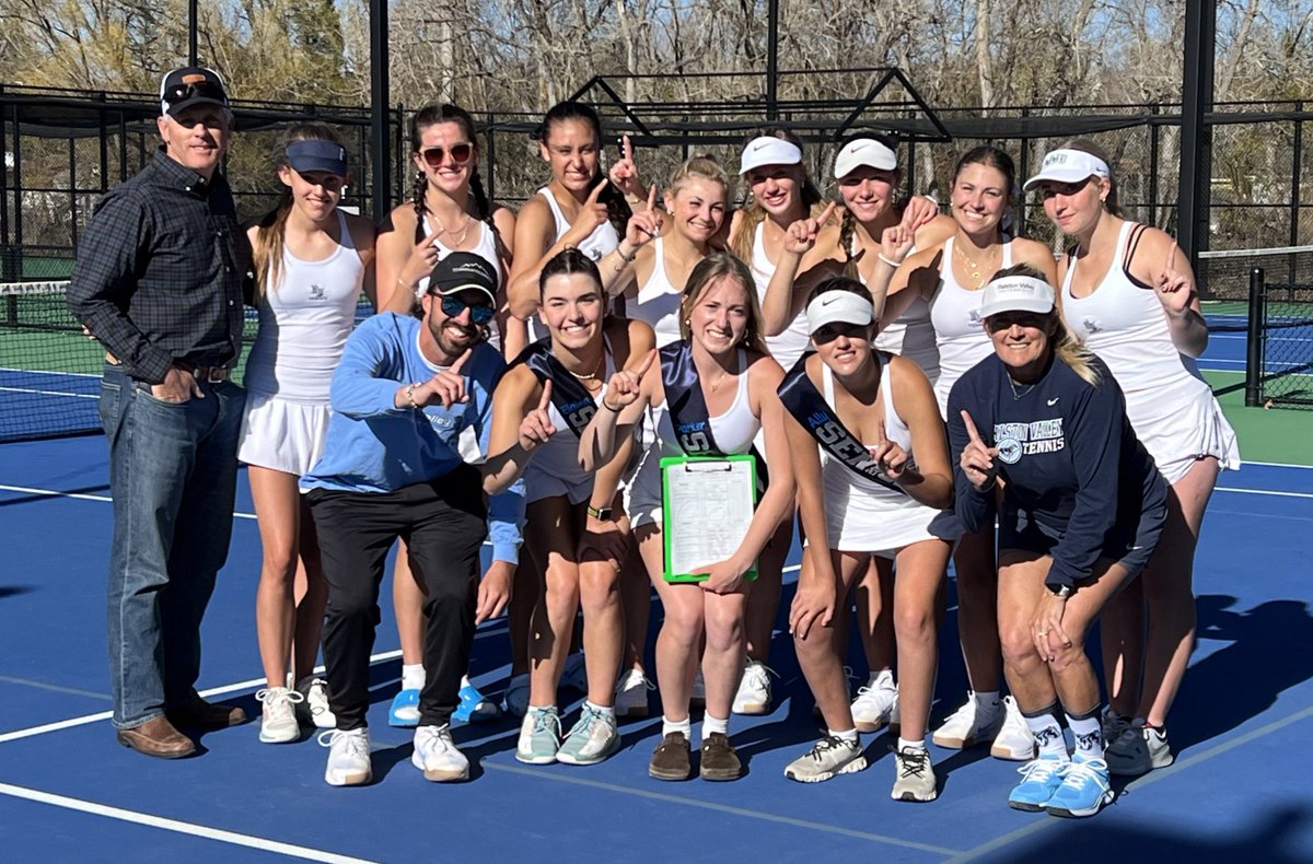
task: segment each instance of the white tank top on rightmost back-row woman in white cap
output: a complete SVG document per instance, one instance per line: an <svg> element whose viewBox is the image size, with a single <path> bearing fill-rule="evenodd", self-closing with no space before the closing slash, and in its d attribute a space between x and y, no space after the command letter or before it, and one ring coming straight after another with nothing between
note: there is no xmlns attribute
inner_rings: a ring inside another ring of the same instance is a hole
<svg viewBox="0 0 1313 864"><path fill-rule="evenodd" d="M1067 328L1108 364L1121 391L1127 411L1134 395L1155 393L1159 398L1209 391L1192 357L1176 351L1171 341L1167 313L1158 293L1127 274L1127 246L1133 222L1124 222L1117 234L1117 251L1107 274L1087 297L1071 294L1077 259L1073 256L1062 280L1062 316ZM1136 418L1130 414L1130 421Z"/></svg>

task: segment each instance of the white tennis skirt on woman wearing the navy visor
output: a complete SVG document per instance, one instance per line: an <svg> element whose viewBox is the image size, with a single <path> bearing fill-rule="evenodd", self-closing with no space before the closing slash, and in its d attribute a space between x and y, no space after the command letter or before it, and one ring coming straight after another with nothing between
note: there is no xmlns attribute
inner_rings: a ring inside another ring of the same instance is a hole
<svg viewBox="0 0 1313 864"><path fill-rule="evenodd" d="M247 394L238 458L247 465L301 477L323 453L328 437L327 404Z"/></svg>

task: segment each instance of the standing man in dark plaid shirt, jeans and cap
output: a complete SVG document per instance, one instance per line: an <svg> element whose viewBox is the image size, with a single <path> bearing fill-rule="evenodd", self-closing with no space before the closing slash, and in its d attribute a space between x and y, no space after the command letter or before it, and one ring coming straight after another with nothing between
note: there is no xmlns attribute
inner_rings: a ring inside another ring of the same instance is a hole
<svg viewBox="0 0 1313 864"><path fill-rule="evenodd" d="M177 726L246 721L194 684L232 533L246 393L228 376L251 253L218 171L232 137L222 79L165 75L158 123L159 152L101 200L83 235L68 307L106 349L113 722L123 746L175 759L196 752Z"/></svg>

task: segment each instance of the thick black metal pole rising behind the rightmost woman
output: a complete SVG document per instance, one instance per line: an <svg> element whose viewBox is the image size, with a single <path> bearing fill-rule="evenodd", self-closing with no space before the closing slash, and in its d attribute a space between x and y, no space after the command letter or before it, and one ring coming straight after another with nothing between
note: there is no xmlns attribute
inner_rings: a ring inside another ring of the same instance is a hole
<svg viewBox="0 0 1313 864"><path fill-rule="evenodd" d="M1213 134L1205 114L1213 108L1213 55L1217 50L1217 0L1186 0L1186 62L1182 70L1180 186L1176 242L1196 273L1208 249L1209 183ZM1204 284L1207 290L1208 285Z"/></svg>

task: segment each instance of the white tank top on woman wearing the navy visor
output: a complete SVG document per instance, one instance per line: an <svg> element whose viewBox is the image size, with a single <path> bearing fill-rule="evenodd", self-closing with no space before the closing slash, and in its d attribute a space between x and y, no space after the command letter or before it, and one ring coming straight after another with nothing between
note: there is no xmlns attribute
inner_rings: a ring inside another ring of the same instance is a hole
<svg viewBox="0 0 1313 864"><path fill-rule="evenodd" d="M356 323L365 265L347 217L337 211L340 242L322 261L302 261L282 247L278 282L257 305L260 328L247 355L243 382L251 393L293 402L328 403L328 386Z"/></svg>

